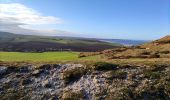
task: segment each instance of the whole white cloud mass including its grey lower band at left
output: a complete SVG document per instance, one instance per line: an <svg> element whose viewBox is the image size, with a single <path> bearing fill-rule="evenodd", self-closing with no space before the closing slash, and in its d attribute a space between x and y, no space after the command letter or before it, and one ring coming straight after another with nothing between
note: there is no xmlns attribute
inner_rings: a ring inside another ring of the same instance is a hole
<svg viewBox="0 0 170 100"><path fill-rule="evenodd" d="M0 4L0 31L30 35L63 35L75 33L56 29L35 29L39 25L60 24L63 21L54 16L43 16L38 11L19 3Z"/></svg>

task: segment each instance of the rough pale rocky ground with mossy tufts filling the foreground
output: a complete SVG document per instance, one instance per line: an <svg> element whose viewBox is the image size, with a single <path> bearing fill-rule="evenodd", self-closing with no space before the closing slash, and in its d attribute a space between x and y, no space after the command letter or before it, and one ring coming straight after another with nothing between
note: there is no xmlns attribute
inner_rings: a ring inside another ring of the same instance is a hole
<svg viewBox="0 0 170 100"><path fill-rule="evenodd" d="M170 100L170 65L0 66L0 100Z"/></svg>

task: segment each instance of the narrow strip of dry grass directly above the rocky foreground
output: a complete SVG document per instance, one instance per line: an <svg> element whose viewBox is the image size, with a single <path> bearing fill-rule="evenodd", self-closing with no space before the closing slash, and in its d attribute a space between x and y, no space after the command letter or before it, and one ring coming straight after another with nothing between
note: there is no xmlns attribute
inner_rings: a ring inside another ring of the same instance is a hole
<svg viewBox="0 0 170 100"><path fill-rule="evenodd" d="M97 60L72 60L72 61L0 61L1 66L24 66L32 64L41 66L44 64L83 64L91 66L96 62L108 62L113 64L132 64L132 65L155 65L155 64L170 64L170 58L129 58L129 59L97 59Z"/></svg>

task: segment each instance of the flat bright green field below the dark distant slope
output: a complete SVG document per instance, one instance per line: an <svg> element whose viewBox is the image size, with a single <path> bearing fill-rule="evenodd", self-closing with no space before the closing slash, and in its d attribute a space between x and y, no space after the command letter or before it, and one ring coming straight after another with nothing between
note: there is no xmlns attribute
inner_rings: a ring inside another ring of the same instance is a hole
<svg viewBox="0 0 170 100"><path fill-rule="evenodd" d="M0 61L73 61L96 59L97 56L78 58L79 52L0 52Z"/></svg>

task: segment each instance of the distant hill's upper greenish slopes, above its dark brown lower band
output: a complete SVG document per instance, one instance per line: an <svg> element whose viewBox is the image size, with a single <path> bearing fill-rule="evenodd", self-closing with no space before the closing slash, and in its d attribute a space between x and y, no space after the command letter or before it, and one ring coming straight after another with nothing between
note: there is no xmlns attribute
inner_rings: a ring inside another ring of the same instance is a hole
<svg viewBox="0 0 170 100"><path fill-rule="evenodd" d="M12 34L8 32L0 32L0 42L11 42L11 43L18 43L18 42L49 42L49 43L61 43L61 44L70 44L70 45L78 45L78 44L85 44L85 45L110 45L110 46L121 46L117 43L107 43L101 42L96 39L83 39L83 38L69 38L69 37L49 37L49 36L33 36L33 35L19 35L19 34Z"/></svg>

